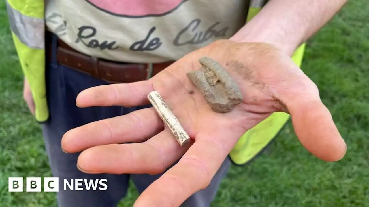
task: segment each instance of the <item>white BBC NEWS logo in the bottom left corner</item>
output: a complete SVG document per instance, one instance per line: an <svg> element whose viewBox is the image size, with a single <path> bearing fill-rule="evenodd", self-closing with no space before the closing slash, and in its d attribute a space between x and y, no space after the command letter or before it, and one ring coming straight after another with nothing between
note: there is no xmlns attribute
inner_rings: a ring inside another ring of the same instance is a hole
<svg viewBox="0 0 369 207"><path fill-rule="evenodd" d="M23 178L8 178L8 192L23 192ZM41 178L26 178L26 192L41 192ZM106 179L63 179L62 190L106 190ZM59 178L44 178L44 192L59 192Z"/></svg>

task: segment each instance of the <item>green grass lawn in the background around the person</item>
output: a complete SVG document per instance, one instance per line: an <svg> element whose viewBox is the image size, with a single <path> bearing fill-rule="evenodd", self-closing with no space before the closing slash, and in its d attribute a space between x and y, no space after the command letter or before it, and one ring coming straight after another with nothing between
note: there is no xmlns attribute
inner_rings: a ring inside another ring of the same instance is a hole
<svg viewBox="0 0 369 207"><path fill-rule="evenodd" d="M23 75L0 3L0 206L56 206L54 193L9 193L7 178L51 176L41 130L23 102ZM272 151L233 166L214 207L369 206L369 4L352 0L308 41L303 70L318 85L345 138L347 154L325 163L310 155L289 123ZM130 188L121 206L138 196Z"/></svg>

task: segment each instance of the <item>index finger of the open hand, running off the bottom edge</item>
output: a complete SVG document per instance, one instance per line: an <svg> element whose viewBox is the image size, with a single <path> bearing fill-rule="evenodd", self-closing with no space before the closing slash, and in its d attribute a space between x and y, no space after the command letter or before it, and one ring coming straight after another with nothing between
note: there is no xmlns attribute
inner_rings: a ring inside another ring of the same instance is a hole
<svg viewBox="0 0 369 207"><path fill-rule="evenodd" d="M222 135L220 135L222 136ZM227 136L227 135L226 135ZM136 200L135 207L180 206L198 190L206 188L237 139L196 137L179 162L153 182Z"/></svg>

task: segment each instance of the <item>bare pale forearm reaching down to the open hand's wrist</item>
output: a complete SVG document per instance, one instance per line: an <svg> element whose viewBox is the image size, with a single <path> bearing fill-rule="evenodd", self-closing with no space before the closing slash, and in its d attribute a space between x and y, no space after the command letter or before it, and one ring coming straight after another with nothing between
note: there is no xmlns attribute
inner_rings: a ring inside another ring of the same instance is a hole
<svg viewBox="0 0 369 207"><path fill-rule="evenodd" d="M294 50L335 15L347 0L270 0L232 38L267 42L292 55Z"/></svg>

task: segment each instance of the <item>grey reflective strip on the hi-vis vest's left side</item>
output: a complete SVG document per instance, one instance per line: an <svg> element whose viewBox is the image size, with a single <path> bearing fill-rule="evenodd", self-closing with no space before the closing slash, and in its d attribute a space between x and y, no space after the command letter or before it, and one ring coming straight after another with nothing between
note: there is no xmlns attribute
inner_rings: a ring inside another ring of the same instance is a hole
<svg viewBox="0 0 369 207"><path fill-rule="evenodd" d="M45 48L45 21L44 19L28 17L15 10L6 2L11 31L20 41L30 48Z"/></svg>

